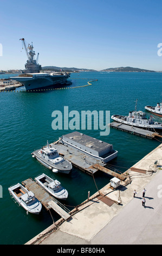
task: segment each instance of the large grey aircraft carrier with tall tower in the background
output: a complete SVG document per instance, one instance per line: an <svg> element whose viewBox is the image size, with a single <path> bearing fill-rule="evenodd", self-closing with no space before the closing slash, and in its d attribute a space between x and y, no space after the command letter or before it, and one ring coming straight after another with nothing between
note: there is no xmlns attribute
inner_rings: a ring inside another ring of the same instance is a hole
<svg viewBox="0 0 162 256"><path fill-rule="evenodd" d="M20 74L19 76L10 77L15 81L21 83L26 90L40 89L49 86L63 86L67 85L67 79L70 76L70 73L67 72L51 72L44 73L41 71L41 65L38 64L38 55L37 59L34 59L35 51L33 50L33 43L30 45L25 44L24 38L20 39L23 42L25 51L27 53L27 63L25 64L25 74Z"/></svg>

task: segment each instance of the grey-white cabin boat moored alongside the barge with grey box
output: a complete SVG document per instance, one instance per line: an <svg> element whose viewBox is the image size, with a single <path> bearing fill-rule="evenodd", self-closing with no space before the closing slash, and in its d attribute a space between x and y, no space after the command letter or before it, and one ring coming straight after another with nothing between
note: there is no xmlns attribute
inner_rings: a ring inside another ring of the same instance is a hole
<svg viewBox="0 0 162 256"><path fill-rule="evenodd" d="M57 149L51 147L48 141L47 146L31 154L48 169L53 170L54 173L60 172L69 174L70 170L72 170L72 163L60 156Z"/></svg>

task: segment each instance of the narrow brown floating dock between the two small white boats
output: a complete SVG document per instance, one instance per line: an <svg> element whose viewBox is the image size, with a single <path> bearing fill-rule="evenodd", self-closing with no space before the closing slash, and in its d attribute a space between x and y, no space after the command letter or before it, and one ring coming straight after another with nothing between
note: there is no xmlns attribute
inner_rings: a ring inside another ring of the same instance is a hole
<svg viewBox="0 0 162 256"><path fill-rule="evenodd" d="M38 185L33 179L29 178L22 181L22 185L35 194L35 197L42 203L46 210L53 209L64 220L70 218L70 215L68 214L69 210L54 197L50 196L50 194L46 192L40 185Z"/></svg>

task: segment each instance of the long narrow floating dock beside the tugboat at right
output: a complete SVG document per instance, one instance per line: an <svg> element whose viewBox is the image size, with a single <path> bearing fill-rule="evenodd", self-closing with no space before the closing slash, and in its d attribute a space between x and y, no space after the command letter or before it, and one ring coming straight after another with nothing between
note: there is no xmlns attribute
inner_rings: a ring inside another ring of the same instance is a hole
<svg viewBox="0 0 162 256"><path fill-rule="evenodd" d="M113 123L109 124L111 127L121 130L121 131L126 131L129 133L132 133L134 135L138 135L138 136L142 136L142 137L146 137L146 138L150 138L153 139L155 137L160 137L162 138L161 135L159 135L159 133L157 132L152 132L152 131L148 131L145 129L141 129L138 127L134 127L134 126L130 126L130 125L126 125L126 124L121 124L118 123L116 121L114 121Z"/></svg>

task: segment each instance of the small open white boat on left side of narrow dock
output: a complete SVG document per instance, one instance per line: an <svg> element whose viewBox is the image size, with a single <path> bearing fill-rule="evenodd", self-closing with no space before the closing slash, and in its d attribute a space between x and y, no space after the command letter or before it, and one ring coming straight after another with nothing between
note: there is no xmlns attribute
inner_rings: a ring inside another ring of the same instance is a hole
<svg viewBox="0 0 162 256"><path fill-rule="evenodd" d="M11 196L21 205L27 212L31 214L39 214L42 209L41 202L35 197L34 193L28 191L20 183L8 188Z"/></svg>

